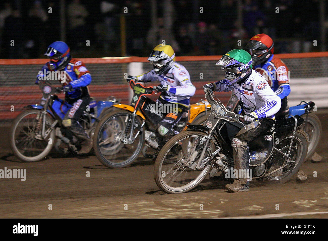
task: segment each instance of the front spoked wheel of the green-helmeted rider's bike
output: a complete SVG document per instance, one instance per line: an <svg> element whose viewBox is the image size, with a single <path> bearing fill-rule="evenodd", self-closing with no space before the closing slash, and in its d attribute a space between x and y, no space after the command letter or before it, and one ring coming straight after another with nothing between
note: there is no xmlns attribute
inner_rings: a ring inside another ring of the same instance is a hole
<svg viewBox="0 0 328 241"><path fill-rule="evenodd" d="M154 179L157 186L167 193L188 192L197 187L206 177L212 167L212 162L194 170L186 165L186 160L195 151L200 139L206 134L200 131L183 131L171 138L159 152L155 161ZM210 142L211 151L215 151ZM196 156L197 163L201 152ZM203 160L208 157L205 152Z"/></svg>

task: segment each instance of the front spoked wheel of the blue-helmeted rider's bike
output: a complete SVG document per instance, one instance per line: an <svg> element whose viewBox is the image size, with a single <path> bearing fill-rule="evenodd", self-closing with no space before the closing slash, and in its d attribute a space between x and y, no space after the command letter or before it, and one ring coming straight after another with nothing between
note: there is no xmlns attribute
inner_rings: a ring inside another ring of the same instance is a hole
<svg viewBox="0 0 328 241"><path fill-rule="evenodd" d="M9 133L10 148L22 161L42 160L49 154L55 143L54 130L42 137L42 116L46 118L44 130L49 131L54 120L48 114L43 115L42 110L25 110L12 123Z"/></svg>

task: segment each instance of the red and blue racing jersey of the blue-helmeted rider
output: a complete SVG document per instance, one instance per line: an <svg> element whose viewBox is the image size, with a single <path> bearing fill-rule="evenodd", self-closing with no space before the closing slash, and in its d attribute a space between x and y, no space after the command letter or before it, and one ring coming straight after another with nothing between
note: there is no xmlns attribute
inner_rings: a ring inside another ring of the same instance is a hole
<svg viewBox="0 0 328 241"><path fill-rule="evenodd" d="M37 75L36 83L38 83L39 78L41 78L47 80L58 80L62 86L71 85L72 91L66 92L66 97L70 99L76 99L89 94L87 86L91 83L91 75L90 71L87 70L84 63L81 61L71 59L63 70L57 71L60 75L52 75L52 71L49 69L48 62L42 67L42 70Z"/></svg>

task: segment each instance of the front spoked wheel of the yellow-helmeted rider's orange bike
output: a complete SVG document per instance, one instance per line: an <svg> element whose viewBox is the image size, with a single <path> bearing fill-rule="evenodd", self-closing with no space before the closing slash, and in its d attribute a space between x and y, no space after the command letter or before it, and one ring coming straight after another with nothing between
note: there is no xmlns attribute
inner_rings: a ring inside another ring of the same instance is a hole
<svg viewBox="0 0 328 241"><path fill-rule="evenodd" d="M104 115L93 135L93 150L99 161L111 168L131 165L138 157L144 142L144 131L140 130L140 126L138 117L132 123L129 111L116 110ZM129 139L131 131L133 139Z"/></svg>

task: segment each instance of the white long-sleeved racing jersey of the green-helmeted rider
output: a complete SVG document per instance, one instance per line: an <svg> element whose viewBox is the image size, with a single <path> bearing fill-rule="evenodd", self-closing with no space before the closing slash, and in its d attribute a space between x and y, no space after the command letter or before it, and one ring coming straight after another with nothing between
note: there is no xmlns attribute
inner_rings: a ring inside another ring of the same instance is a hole
<svg viewBox="0 0 328 241"><path fill-rule="evenodd" d="M275 119L275 113L280 109L281 99L273 92L265 78L252 70L241 83L228 87L224 80L215 83L215 91L232 91L242 102L245 113L251 113L256 118Z"/></svg>

